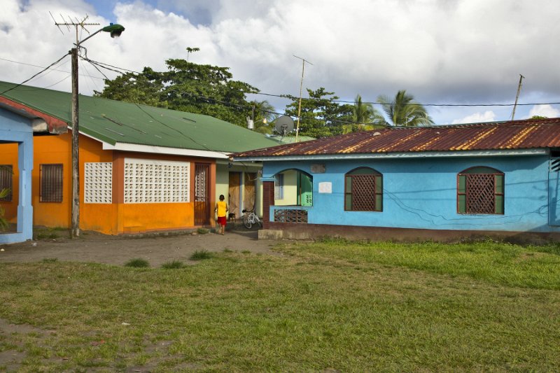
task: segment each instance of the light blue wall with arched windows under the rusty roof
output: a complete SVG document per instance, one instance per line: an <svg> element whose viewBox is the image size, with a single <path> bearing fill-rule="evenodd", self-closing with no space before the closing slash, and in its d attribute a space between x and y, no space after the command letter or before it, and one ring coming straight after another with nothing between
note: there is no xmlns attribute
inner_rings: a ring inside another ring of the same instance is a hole
<svg viewBox="0 0 560 373"><path fill-rule="evenodd" d="M539 155L265 162L262 176L291 168L311 174L313 206L308 209L308 221L314 224L560 232L560 227L548 223L549 190L556 193L556 184L549 185L548 160L547 155ZM325 164L325 173L313 174L311 164ZM493 167L505 174L504 215L456 212L457 174L475 166ZM383 174L382 212L344 211L344 174L356 167L371 167ZM321 182L332 183L332 193L319 193Z"/></svg>

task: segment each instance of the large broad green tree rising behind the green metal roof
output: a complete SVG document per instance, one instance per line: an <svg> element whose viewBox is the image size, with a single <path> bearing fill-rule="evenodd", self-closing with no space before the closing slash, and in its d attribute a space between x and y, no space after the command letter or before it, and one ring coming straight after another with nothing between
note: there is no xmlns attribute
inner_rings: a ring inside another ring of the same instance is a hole
<svg viewBox="0 0 560 373"><path fill-rule="evenodd" d="M190 48L190 52L197 48ZM252 103L246 94L259 90L233 80L228 67L195 64L185 59L167 59L167 71L145 67L139 74L125 73L105 80L97 96L160 106L174 110L211 115L236 125L246 126ZM273 110L272 110L273 111Z"/></svg>

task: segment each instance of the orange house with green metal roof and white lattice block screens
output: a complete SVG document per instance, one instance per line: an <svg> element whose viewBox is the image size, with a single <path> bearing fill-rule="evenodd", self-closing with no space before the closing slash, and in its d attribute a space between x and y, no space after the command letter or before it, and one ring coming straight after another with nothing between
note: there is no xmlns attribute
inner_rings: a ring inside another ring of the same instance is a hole
<svg viewBox="0 0 560 373"><path fill-rule="evenodd" d="M10 86L0 82L0 91ZM22 86L6 95L71 127L69 93ZM208 115L80 96L80 229L123 234L214 225L216 164L227 164L228 153L274 145ZM71 153L70 130L34 138L34 225L71 225ZM17 184L17 146L1 144L0 154ZM18 185L12 190L12 201L1 202L10 221L17 218Z"/></svg>

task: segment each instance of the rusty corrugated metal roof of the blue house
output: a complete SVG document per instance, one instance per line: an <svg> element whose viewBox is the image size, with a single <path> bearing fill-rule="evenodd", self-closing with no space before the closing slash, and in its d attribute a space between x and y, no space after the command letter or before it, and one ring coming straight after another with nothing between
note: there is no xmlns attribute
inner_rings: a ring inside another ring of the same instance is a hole
<svg viewBox="0 0 560 373"><path fill-rule="evenodd" d="M560 118L433 127L388 127L235 153L233 157L560 148Z"/></svg>

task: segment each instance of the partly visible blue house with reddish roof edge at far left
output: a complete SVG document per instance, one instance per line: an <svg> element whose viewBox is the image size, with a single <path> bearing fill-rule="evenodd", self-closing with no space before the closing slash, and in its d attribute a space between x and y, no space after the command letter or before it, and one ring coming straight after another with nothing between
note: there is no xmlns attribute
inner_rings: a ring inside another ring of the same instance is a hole
<svg viewBox="0 0 560 373"><path fill-rule="evenodd" d="M1 92L4 94L8 91ZM31 171L33 169L33 136L61 134L67 131L62 120L0 96L0 143L18 144L19 178L11 183L15 169L0 160L0 181L8 189L18 188L18 223L15 232L0 234L0 244L12 244L33 238L33 206L31 204ZM3 200L11 201L11 193ZM0 200L2 204L2 200Z"/></svg>

